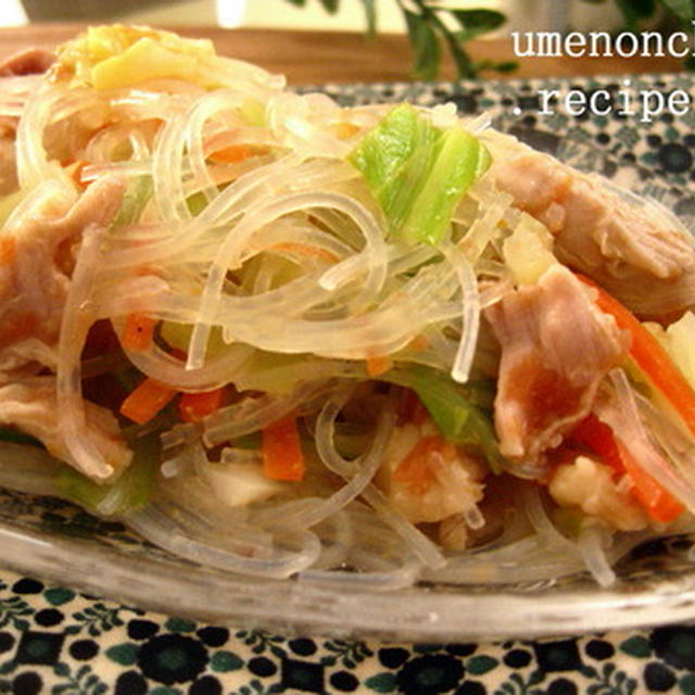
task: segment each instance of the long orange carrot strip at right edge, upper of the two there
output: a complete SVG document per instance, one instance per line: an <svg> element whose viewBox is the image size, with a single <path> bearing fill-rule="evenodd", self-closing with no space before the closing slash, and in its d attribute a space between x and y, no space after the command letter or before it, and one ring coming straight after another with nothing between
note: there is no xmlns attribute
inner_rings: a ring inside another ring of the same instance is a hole
<svg viewBox="0 0 695 695"><path fill-rule="evenodd" d="M630 309L589 278L578 277L596 290L596 306L612 316L618 328L630 333L630 356L654 388L673 406L687 429L695 434L695 391L683 372Z"/></svg>

